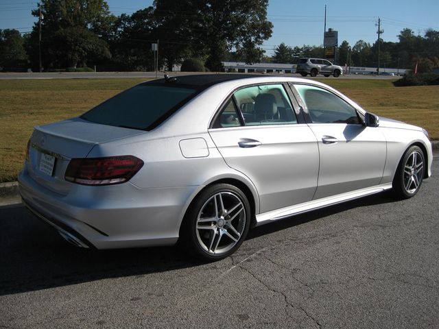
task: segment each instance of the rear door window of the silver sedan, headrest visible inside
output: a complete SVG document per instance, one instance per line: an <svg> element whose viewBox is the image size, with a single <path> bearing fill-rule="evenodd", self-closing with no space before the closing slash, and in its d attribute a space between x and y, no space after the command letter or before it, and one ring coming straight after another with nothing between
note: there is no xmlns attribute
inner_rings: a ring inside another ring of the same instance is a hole
<svg viewBox="0 0 439 329"><path fill-rule="evenodd" d="M233 95L245 125L297 123L296 114L282 84L251 86Z"/></svg>

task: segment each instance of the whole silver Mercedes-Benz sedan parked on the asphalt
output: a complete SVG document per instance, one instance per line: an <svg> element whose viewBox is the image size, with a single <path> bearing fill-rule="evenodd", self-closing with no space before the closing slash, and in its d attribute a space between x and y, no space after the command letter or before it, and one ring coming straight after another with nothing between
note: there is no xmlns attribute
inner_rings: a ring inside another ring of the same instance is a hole
<svg viewBox="0 0 439 329"><path fill-rule="evenodd" d="M181 241L217 260L253 226L385 190L412 197L432 158L425 130L318 82L165 76L35 127L19 189L80 247Z"/></svg>

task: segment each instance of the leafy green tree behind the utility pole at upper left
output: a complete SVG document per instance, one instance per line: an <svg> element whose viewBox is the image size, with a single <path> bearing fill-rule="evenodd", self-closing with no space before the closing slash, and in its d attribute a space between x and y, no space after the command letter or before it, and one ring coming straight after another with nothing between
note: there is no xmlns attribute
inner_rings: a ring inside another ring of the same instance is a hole
<svg viewBox="0 0 439 329"><path fill-rule="evenodd" d="M110 57L108 43L115 16L104 0L41 0L34 16L43 14L41 51L43 66L85 65ZM29 40L32 61L38 62L38 23Z"/></svg>

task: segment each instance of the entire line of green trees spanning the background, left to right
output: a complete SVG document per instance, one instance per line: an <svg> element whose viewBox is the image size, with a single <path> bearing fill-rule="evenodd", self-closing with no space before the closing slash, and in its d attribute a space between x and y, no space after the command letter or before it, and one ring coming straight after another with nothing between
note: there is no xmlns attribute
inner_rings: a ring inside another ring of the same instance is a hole
<svg viewBox="0 0 439 329"><path fill-rule="evenodd" d="M195 58L210 71L222 61L296 63L302 57L324 57L324 49L281 43L273 56L261 45L272 36L268 0L155 0L133 14L115 16L105 0L41 0L32 11L32 32L0 30L0 66L45 71L97 66L99 71L153 71L152 43L158 42L159 65L171 69ZM39 21L41 22L39 24ZM431 71L439 66L439 32L416 36L403 29L399 42L382 39L370 45L345 40L337 47L337 64Z"/></svg>

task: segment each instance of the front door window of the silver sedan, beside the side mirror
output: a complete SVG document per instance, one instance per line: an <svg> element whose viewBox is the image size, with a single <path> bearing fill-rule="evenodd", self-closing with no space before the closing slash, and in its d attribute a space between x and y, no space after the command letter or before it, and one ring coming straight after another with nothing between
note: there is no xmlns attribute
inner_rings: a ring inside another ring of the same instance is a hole
<svg viewBox="0 0 439 329"><path fill-rule="evenodd" d="M355 108L329 90L302 84L294 87L304 101L313 123L360 123Z"/></svg>

